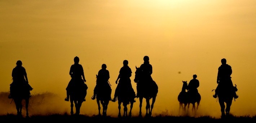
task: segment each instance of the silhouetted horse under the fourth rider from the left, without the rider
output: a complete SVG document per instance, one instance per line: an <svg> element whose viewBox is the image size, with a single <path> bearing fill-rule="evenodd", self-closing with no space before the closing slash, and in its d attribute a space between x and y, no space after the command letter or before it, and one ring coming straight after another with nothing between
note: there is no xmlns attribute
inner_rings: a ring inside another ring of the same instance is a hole
<svg viewBox="0 0 256 123"><path fill-rule="evenodd" d="M122 84L122 83L119 83L119 84ZM119 93L117 94L118 110L119 110L118 117L119 118L121 117L121 104L122 103L123 103L123 106L124 106L123 117L128 117L128 116L132 117L133 101L134 101L135 97L133 97L131 95L131 93L128 93L128 92L131 92L131 90L133 91L133 89L128 88L127 86L125 86L125 84L120 85ZM127 115L127 112L128 112L127 105L129 105L129 104L131 104L130 105L130 111L129 111L129 115Z"/></svg>

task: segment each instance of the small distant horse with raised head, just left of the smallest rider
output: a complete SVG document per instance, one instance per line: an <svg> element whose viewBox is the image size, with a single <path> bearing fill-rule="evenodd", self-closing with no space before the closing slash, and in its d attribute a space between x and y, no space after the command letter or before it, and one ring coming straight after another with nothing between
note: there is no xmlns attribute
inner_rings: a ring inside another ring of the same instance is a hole
<svg viewBox="0 0 256 123"><path fill-rule="evenodd" d="M186 112L186 106L188 104L188 95L187 95L187 92L186 92L187 81L182 81L182 82L183 82L182 89L181 89L180 94L178 95L178 101L180 102L179 113L180 113L180 109L182 109L182 113L185 113Z"/></svg>

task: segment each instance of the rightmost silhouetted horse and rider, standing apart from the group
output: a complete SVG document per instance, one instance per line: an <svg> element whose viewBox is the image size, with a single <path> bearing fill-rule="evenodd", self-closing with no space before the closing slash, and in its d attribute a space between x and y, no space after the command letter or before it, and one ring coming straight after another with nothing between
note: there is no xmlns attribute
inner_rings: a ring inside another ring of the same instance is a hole
<svg viewBox="0 0 256 123"><path fill-rule="evenodd" d="M237 99L236 94L237 85L233 86L231 80L232 68L230 65L226 64L226 59L221 59L221 66L218 68L217 74L217 88L215 89L215 94L213 98L219 97L219 104L221 108L221 117L230 115L230 107L232 100ZM212 90L213 91L213 90ZM226 103L226 107L225 107Z"/></svg>

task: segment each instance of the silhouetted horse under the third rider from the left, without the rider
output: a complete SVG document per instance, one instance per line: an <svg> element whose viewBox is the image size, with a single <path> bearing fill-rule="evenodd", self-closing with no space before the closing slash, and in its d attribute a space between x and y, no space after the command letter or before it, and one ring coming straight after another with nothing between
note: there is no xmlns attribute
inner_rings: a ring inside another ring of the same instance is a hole
<svg viewBox="0 0 256 123"><path fill-rule="evenodd" d="M98 75L96 75L96 79L98 80ZM109 100L110 100L109 97L111 97L111 91L112 91L111 88L109 90L109 88L105 85L102 85L102 84L98 85L98 92L96 93L96 101L97 101L98 110L99 110L98 115L100 116L101 116L101 105L103 108L102 115L107 116L107 106L109 105Z"/></svg>

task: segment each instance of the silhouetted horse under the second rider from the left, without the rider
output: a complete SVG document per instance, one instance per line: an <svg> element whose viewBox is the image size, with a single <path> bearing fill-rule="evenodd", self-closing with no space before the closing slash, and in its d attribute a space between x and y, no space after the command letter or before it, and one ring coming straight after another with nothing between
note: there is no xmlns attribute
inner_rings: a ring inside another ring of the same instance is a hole
<svg viewBox="0 0 256 123"><path fill-rule="evenodd" d="M83 81L83 80L81 80ZM75 115L79 115L80 114L80 108L82 106L82 103L84 101L85 96L87 95L87 85L83 82L79 83L79 84L75 84L74 85L74 90L70 91L70 107L71 107L71 111L70 114L73 115L74 111L73 111L73 107L75 103L75 108L76 108L76 112Z"/></svg>

